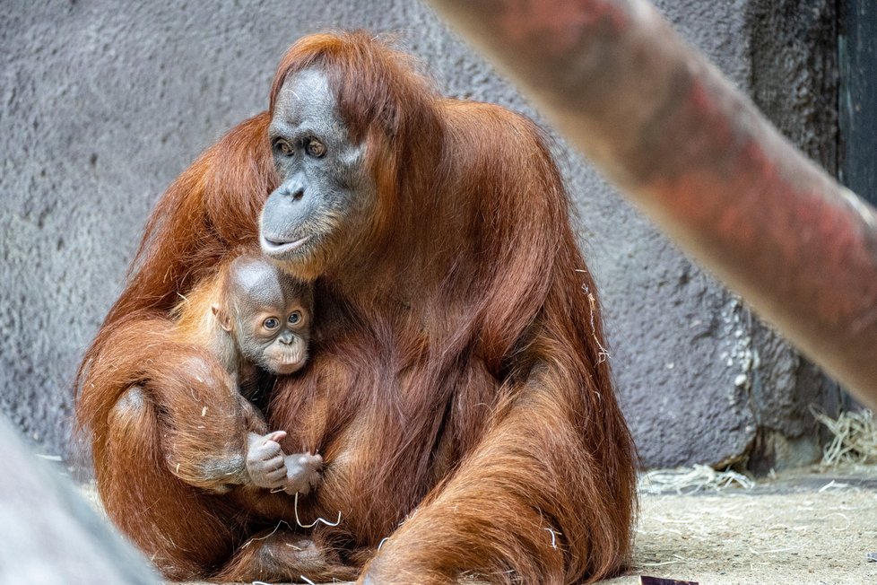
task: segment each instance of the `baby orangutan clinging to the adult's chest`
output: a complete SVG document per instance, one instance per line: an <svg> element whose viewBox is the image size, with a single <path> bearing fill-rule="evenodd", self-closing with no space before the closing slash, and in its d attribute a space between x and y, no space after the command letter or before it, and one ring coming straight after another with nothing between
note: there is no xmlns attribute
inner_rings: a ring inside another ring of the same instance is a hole
<svg viewBox="0 0 877 585"><path fill-rule="evenodd" d="M283 453L285 431L265 433L254 401L270 374L290 374L308 359L313 292L260 256L243 254L223 266L215 279L196 287L174 310L187 341L206 347L239 389L246 413L248 482L287 493L308 493L319 481L323 458ZM268 374L268 375L266 375Z"/></svg>

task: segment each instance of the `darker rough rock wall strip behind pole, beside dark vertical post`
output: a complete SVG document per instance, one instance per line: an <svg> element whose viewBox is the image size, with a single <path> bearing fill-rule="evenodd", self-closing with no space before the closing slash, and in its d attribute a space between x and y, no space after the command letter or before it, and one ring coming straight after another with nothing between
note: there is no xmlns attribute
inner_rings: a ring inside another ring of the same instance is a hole
<svg viewBox="0 0 877 585"><path fill-rule="evenodd" d="M774 125L813 161L838 170L838 3L752 3L751 95ZM751 383L758 435L751 467L767 471L821 456L812 406L830 414L838 386L768 327L759 327L760 368Z"/></svg>

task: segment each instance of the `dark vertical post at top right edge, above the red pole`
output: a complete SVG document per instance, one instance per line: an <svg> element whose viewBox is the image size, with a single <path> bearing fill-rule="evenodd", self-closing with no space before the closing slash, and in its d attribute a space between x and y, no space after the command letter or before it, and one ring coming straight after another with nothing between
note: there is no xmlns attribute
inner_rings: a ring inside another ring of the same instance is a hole
<svg viewBox="0 0 877 585"><path fill-rule="evenodd" d="M877 204L877 3L842 0L840 180Z"/></svg>

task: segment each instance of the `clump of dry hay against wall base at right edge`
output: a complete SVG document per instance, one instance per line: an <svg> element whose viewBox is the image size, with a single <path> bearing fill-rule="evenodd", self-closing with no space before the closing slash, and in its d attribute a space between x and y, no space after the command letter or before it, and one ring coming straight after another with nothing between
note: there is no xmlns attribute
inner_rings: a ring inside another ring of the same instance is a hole
<svg viewBox="0 0 877 585"><path fill-rule="evenodd" d="M877 420L870 410L845 412L836 419L822 413L813 413L813 416L832 435L822 452L823 466L877 463Z"/></svg>

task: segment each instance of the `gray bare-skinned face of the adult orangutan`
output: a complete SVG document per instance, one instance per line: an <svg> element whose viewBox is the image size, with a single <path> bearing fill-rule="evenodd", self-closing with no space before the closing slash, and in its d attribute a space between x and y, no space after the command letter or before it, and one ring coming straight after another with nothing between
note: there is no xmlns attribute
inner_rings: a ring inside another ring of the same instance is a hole
<svg viewBox="0 0 877 585"><path fill-rule="evenodd" d="M374 204L365 148L351 144L326 74L316 69L283 84L268 134L281 185L262 211L262 251L292 274L316 278L356 240Z"/></svg>

